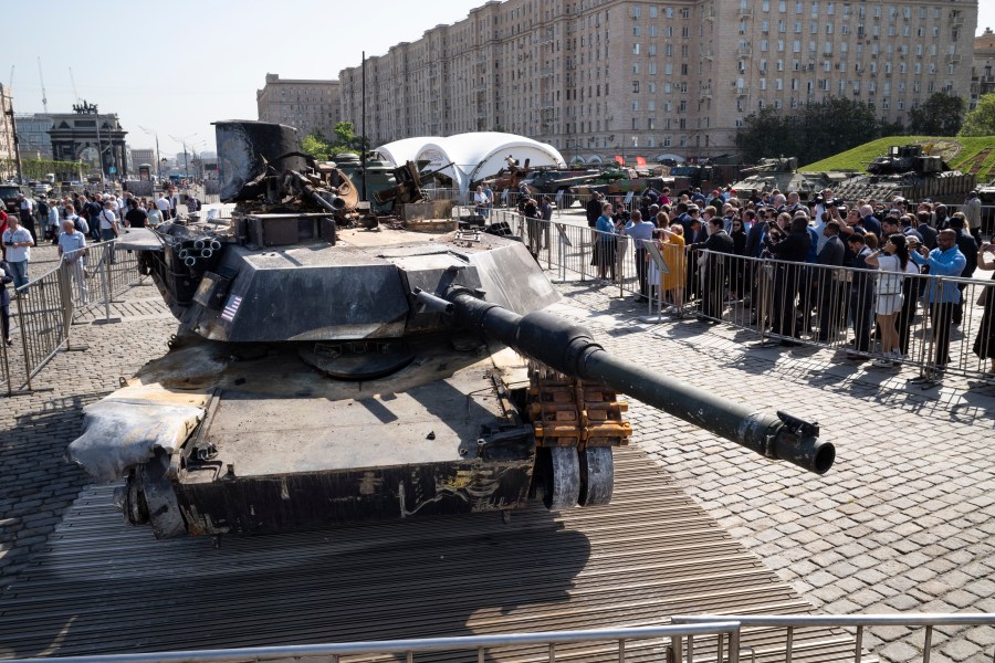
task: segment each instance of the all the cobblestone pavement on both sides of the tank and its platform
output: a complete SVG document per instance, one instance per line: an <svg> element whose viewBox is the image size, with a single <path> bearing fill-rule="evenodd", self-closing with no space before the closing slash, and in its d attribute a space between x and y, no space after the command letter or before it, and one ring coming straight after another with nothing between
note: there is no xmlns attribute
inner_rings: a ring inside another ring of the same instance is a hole
<svg viewBox="0 0 995 663"><path fill-rule="evenodd" d="M563 313L605 347L731 401L818 420L837 446L824 477L772 463L632 402L635 442L723 527L820 612L995 612L995 388L879 371L830 350L760 349L696 322L640 324L642 306L595 283L567 283ZM121 297L119 323L74 325L74 343L9 399L0 434L0 588L44 549L83 473L63 461L82 408L166 351L176 324L150 285ZM103 312L98 312L103 315ZM920 660L923 631L865 635L883 660ZM992 661L995 629L939 629L933 661Z"/></svg>

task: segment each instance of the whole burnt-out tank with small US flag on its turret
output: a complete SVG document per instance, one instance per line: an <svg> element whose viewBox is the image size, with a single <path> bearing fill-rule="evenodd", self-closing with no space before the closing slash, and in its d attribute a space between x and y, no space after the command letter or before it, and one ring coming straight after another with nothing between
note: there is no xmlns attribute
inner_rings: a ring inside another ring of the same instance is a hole
<svg viewBox="0 0 995 663"><path fill-rule="evenodd" d="M611 356L551 312L561 297L521 242L364 228L355 188L296 156L292 128L217 131L231 223L124 245L180 333L87 406L67 454L126 477L127 522L161 538L605 504L631 434L617 393L771 459L832 464L817 424Z"/></svg>

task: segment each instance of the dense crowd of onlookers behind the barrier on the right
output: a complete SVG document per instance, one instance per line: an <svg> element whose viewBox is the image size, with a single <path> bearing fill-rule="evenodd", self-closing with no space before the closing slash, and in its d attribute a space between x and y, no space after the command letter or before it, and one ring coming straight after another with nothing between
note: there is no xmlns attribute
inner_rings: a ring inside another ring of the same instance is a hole
<svg viewBox="0 0 995 663"><path fill-rule="evenodd" d="M807 201L777 190L740 198L730 188L674 198L668 189L648 191L631 211L596 194L586 207L597 276L615 281L619 246L633 245L636 298L659 287L667 314L683 316L693 303L700 320L715 323L726 304L742 302L752 324L787 346L803 335L831 343L849 327L848 359L873 358L884 368L908 355L921 307L932 333L934 354L923 375L930 380L950 362L951 328L964 318L967 284L949 278L995 271L975 191L960 210L900 197L844 201L828 189ZM660 250L661 267L647 243ZM989 302L995 286L984 288L978 304ZM985 306L974 352L995 373L995 308Z"/></svg>

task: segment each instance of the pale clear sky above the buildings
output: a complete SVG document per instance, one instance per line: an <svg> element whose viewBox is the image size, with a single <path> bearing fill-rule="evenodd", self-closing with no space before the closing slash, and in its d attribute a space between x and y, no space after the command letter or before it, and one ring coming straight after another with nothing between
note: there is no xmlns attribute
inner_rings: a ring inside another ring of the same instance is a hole
<svg viewBox="0 0 995 663"><path fill-rule="evenodd" d="M103 0L85 7L54 0L42 11L8 0L4 22L17 28L3 38L0 82L10 83L14 65L14 109L41 112L40 56L49 112L67 113L75 103L72 66L76 94L117 113L133 147L154 146L140 125L158 133L164 154L181 151L170 136L213 149L210 123L255 119L255 91L266 73L335 78L359 64L364 50L381 55L463 19L484 1ZM978 33L989 25L995 28L995 2L983 0Z"/></svg>

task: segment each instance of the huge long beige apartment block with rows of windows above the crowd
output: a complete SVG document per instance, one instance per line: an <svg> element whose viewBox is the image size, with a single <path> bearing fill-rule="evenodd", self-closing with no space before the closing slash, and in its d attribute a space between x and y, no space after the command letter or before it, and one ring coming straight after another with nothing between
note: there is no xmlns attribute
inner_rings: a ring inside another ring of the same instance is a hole
<svg viewBox="0 0 995 663"><path fill-rule="evenodd" d="M500 129L567 160L734 151L746 116L847 96L908 122L966 97L977 0L506 0L366 62L375 145ZM339 73L360 133L362 66Z"/></svg>

